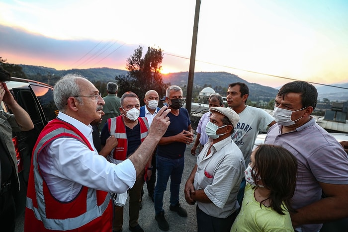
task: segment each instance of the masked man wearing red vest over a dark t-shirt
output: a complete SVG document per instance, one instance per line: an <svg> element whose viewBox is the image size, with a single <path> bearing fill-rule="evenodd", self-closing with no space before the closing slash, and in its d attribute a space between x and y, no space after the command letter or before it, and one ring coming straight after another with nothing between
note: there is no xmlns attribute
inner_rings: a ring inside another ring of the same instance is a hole
<svg viewBox="0 0 348 232"><path fill-rule="evenodd" d="M107 143L107 139L115 136L117 146L115 150L107 156L107 159L113 163L120 163L132 155L140 146L148 134L149 125L146 118L139 118L140 101L133 92L125 92L121 97L121 116L111 118L106 121L100 134L101 145ZM151 166L151 158L148 160ZM132 232L143 232L138 223L141 190L144 185L145 169L137 176L137 179L131 189L129 189L129 227ZM151 175L151 170L147 172ZM122 231L123 226L123 206L115 205L112 230Z"/></svg>

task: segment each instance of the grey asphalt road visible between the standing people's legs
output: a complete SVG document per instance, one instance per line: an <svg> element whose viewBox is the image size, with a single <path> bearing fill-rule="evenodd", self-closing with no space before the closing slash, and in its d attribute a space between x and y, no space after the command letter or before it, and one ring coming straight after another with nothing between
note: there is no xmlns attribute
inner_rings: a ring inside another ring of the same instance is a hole
<svg viewBox="0 0 348 232"><path fill-rule="evenodd" d="M180 203L181 206L187 211L187 218L182 218L177 215L176 212L170 211L170 180L167 185L167 190L163 198L163 208L165 209L166 219L169 223L170 232L196 232L197 231L197 221L196 221L196 205L188 205L185 201L183 189L191 170L196 163L196 156L191 155L190 149L192 145L186 147L185 151L185 166L182 174L181 186L180 186ZM128 200L127 200L128 202ZM124 207L124 219L123 219L123 232L129 232L128 230L128 206L127 203ZM139 225L144 229L145 232L161 232L157 226L157 221L155 220L155 209L154 203L148 196L146 184L144 185L144 196L143 196L143 209L139 213ZM18 218L16 222L15 232L24 231L24 214Z"/></svg>

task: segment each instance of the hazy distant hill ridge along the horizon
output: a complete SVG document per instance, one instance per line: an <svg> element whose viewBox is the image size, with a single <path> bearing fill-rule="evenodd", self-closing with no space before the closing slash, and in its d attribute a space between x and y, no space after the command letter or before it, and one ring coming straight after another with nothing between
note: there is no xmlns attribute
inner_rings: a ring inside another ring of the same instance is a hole
<svg viewBox="0 0 348 232"><path fill-rule="evenodd" d="M33 75L51 75L55 78L63 77L68 73L79 73L84 77L87 77L90 81L114 81L115 76L126 75L126 70L111 69L111 68L91 68L91 69L71 69L71 70L56 70L53 68L47 68L42 66L32 66L32 65L20 65L23 68L23 72L28 76ZM170 73L163 74L163 80L165 83L170 82L171 84L186 86L188 72L179 72L179 73ZM257 83L250 83L234 74L226 72L196 72L194 73L194 88L203 88L205 85L210 85L215 89L217 86L221 88L227 88L228 84L233 82L244 82L248 85L250 90L249 99L252 101L269 101L274 99L277 94L277 89L264 86ZM336 84L337 86L348 87L348 83L345 84ZM219 89L221 89L219 88ZM319 86L318 89L318 98L328 98L331 101L347 101L348 99L348 90L347 89L338 89L326 86ZM218 92L217 89L215 91ZM220 92L224 94L224 92Z"/></svg>

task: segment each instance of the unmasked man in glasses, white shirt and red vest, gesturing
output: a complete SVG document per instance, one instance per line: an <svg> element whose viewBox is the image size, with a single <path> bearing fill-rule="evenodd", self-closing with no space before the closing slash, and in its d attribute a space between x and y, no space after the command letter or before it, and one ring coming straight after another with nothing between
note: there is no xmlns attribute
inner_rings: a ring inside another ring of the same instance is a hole
<svg viewBox="0 0 348 232"><path fill-rule="evenodd" d="M134 185L170 124L170 110L158 112L146 141L116 166L92 143L89 123L101 117L104 104L98 89L84 77L66 75L55 85L54 100L58 117L33 150L24 231L111 231L108 192L123 193Z"/></svg>

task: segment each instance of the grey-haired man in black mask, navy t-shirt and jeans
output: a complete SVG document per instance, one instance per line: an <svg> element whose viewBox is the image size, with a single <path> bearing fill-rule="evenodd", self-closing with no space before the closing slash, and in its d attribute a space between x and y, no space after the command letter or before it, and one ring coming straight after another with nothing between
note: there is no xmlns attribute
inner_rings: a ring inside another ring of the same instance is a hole
<svg viewBox="0 0 348 232"><path fill-rule="evenodd" d="M167 102L171 112L167 115L171 121L166 133L158 143L156 153L157 184L154 192L155 219L162 231L169 230L163 209L163 195L171 178L170 210L181 217L187 212L179 203L179 190L184 166L186 145L193 142L193 130L188 111L182 106L182 89L177 85L167 88Z"/></svg>

